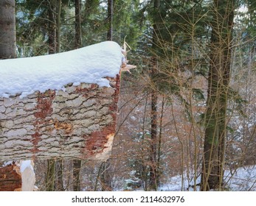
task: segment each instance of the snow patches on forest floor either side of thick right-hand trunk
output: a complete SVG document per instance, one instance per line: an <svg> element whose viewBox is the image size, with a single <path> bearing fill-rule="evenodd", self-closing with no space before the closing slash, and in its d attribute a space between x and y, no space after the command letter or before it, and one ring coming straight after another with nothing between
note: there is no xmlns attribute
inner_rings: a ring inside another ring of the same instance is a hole
<svg viewBox="0 0 256 206"><path fill-rule="evenodd" d="M201 177L197 178L196 184L200 182L200 179ZM224 182L225 188L228 191L256 191L256 165L237 168L232 173L226 170ZM193 180L187 180L186 174L183 177L177 175L171 177L170 183L162 185L159 191L187 191L187 188L188 191L193 191L194 189L192 187L188 187L188 185L193 184ZM199 191L199 186L196 187L196 191Z"/></svg>

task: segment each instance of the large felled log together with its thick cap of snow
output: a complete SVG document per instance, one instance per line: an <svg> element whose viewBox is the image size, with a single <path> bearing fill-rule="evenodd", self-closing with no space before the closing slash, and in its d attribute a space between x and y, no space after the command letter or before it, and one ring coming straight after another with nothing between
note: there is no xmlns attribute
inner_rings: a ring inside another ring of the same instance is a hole
<svg viewBox="0 0 256 206"><path fill-rule="evenodd" d="M114 42L1 60L0 160L107 159L123 62Z"/></svg>

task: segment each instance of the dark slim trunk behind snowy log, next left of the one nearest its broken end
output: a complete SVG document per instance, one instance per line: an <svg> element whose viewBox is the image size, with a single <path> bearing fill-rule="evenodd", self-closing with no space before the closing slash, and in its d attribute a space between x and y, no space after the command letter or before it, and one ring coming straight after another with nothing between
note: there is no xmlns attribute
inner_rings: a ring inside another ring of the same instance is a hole
<svg viewBox="0 0 256 206"><path fill-rule="evenodd" d="M75 49L82 46L81 1L75 0Z"/></svg>

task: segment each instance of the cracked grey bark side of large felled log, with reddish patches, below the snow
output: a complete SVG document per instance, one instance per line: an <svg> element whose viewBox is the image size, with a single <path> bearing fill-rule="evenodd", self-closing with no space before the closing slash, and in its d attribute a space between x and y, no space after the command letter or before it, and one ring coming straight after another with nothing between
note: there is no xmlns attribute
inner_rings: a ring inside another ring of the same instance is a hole
<svg viewBox="0 0 256 206"><path fill-rule="evenodd" d="M117 119L120 78L112 87L82 83L65 90L0 98L0 160L106 160Z"/></svg>

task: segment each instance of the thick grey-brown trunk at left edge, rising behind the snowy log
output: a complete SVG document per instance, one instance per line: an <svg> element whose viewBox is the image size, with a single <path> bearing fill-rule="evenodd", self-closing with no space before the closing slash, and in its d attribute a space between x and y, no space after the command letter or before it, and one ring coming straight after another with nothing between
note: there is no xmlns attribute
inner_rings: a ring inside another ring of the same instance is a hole
<svg viewBox="0 0 256 206"><path fill-rule="evenodd" d="M0 1L0 60L16 56L15 0Z"/></svg>

